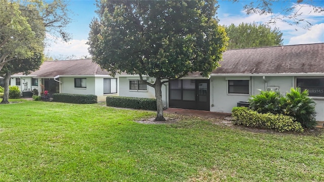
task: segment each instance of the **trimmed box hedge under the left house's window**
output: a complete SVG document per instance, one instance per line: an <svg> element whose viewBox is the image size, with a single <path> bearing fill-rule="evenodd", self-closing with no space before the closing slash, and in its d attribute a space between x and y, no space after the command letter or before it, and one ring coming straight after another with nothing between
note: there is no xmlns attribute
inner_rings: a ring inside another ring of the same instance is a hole
<svg viewBox="0 0 324 182"><path fill-rule="evenodd" d="M73 104L95 104L98 102L96 95L82 94L53 94L54 102L73 103Z"/></svg>

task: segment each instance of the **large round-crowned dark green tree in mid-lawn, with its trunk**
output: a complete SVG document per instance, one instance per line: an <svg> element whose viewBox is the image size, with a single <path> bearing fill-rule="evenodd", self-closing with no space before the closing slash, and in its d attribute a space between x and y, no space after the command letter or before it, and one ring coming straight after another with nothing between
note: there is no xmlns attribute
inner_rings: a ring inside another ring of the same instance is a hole
<svg viewBox="0 0 324 182"><path fill-rule="evenodd" d="M219 66L225 29L216 1L97 1L88 44L94 62L111 72L154 77L157 115L165 120L161 85L190 72L203 76Z"/></svg>

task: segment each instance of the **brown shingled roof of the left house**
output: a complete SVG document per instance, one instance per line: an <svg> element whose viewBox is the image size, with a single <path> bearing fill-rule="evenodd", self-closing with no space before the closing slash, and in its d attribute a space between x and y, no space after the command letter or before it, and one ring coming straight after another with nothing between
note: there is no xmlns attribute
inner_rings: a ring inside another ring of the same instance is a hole
<svg viewBox="0 0 324 182"><path fill-rule="evenodd" d="M34 77L55 77L58 75L109 75L109 73L101 69L98 64L93 63L91 59L83 59L46 61L37 71L31 72L29 75Z"/></svg>

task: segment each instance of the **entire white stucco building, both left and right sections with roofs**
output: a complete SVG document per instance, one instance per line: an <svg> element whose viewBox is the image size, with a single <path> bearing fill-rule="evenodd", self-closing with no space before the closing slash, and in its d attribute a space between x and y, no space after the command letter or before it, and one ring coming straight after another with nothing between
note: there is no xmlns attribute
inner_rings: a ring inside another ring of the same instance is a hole
<svg viewBox="0 0 324 182"><path fill-rule="evenodd" d="M165 83L164 106L231 113L238 102L259 94L258 89L286 94L298 86L309 90L316 102L316 120L324 121L324 43L227 50L220 65L207 78L190 73ZM50 94L94 94L98 101L109 95L155 98L154 89L141 83L139 75L113 78L89 59L44 62L29 75L12 75L11 84L23 92L36 88Z"/></svg>

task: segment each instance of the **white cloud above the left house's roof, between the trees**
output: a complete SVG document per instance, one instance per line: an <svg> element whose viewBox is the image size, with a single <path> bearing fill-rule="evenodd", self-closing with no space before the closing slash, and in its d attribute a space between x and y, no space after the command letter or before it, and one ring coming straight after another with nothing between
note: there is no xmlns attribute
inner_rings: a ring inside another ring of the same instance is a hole
<svg viewBox="0 0 324 182"><path fill-rule="evenodd" d="M64 42L61 39L55 39L50 34L46 35L47 42L49 42L46 48L46 55L53 57L54 59L62 59L66 57L74 56L74 59L82 58L83 56L90 56L88 52L89 45L86 44L88 40L70 40Z"/></svg>

